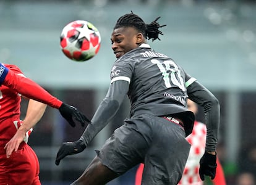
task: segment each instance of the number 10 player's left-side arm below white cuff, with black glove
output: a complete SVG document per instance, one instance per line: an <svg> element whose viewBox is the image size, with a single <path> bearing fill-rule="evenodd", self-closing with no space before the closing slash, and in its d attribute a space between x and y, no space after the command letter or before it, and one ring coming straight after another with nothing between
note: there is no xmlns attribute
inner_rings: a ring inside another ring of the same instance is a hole
<svg viewBox="0 0 256 185"><path fill-rule="evenodd" d="M128 90L129 81L117 80L110 84L105 99L101 101L92 121L88 124L80 139L62 144L56 157L56 165L59 165L61 159L67 155L78 154L88 146L96 134L105 128L109 120L114 117Z"/></svg>

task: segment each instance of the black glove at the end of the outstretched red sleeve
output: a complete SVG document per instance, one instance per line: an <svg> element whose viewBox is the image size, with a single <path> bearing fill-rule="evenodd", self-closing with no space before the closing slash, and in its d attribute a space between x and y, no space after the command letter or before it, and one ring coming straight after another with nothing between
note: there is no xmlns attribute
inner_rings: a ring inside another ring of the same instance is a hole
<svg viewBox="0 0 256 185"><path fill-rule="evenodd" d="M72 127L75 127L75 121L73 120L73 117L75 118L75 120L79 121L82 126L85 126L85 121L90 123L90 120L85 117L83 113L79 112L77 108L67 105L65 103L61 104L61 107L59 107L59 112Z"/></svg>

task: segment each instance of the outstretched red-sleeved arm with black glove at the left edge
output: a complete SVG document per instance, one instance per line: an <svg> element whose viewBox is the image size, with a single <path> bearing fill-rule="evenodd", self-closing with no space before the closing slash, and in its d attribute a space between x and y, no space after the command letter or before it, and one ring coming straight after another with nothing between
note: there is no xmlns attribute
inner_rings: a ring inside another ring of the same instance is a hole
<svg viewBox="0 0 256 185"><path fill-rule="evenodd" d="M43 89L39 84L25 78L25 76L17 75L17 73L12 72L4 65L0 65L0 85L3 84L8 88L14 89L25 97L33 99L35 101L47 104L55 109L58 109L62 117L64 117L71 126L75 126L75 122L72 119L79 121L82 126L85 125L85 121L90 122L83 113L80 113L75 107L65 104L56 97L52 96Z"/></svg>

